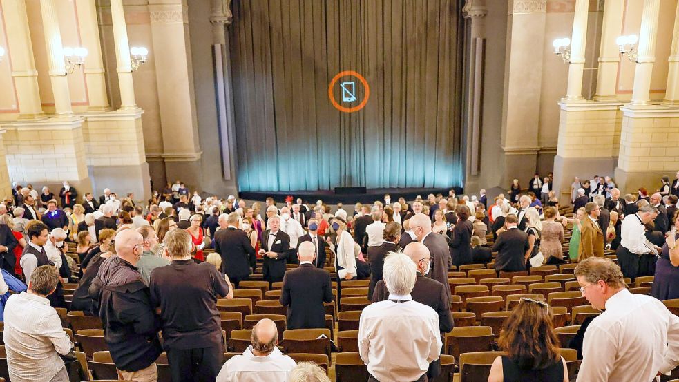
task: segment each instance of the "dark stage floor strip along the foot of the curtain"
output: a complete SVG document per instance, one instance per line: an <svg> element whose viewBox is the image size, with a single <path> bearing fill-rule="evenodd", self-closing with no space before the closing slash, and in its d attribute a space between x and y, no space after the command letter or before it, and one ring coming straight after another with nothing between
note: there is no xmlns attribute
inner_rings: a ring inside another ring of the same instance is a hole
<svg viewBox="0 0 679 382"><path fill-rule="evenodd" d="M244 192L238 193L240 198L247 200L265 200L269 196L274 198L276 202L283 203L288 195L292 195L295 200L297 198L302 198L309 203L314 204L316 200L323 200L326 204L355 204L358 202L374 202L376 200L383 201L385 193L388 193L392 197L392 201L396 202L399 198L403 197L405 200L413 200L417 195L421 195L422 198L427 198L427 195L433 193L441 193L443 195L448 195L448 190L455 189L455 193L460 195L462 189L460 187L448 187L446 189L367 189L365 193L350 193L346 195L336 194L332 190L323 191L286 191L286 192L273 192L273 191L257 191L257 192Z"/></svg>

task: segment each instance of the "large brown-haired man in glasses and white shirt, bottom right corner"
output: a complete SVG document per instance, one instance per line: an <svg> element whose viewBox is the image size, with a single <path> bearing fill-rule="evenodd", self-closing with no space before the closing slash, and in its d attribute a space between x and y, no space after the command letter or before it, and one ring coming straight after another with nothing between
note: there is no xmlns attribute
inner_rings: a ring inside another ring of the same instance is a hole
<svg viewBox="0 0 679 382"><path fill-rule="evenodd" d="M583 260L575 276L582 296L605 309L584 334L577 381L653 381L679 365L679 317L656 298L631 294L609 259Z"/></svg>

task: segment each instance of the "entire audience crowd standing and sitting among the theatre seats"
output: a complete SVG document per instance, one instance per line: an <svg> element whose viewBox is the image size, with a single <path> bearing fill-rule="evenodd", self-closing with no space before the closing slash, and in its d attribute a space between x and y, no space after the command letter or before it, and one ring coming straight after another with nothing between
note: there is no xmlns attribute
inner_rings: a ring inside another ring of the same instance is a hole
<svg viewBox="0 0 679 382"><path fill-rule="evenodd" d="M146 203L110 189L78 198L68 182L58 199L47 187L39 194L17 184L0 204L0 292L17 292L4 307L10 377L68 380L59 354L73 344L53 308L67 307L62 285L72 280L70 309L102 318L121 379L156 381L164 351L173 381L327 380L315 365L296 365L280 352L268 319L255 325L242 355L223 362L217 302L233 298L233 287L260 267L264 280L283 283L287 329L325 327L331 272L337 298L346 281L370 279L372 304L358 332L370 381L430 381L441 372L443 338L454 326L448 271L489 262L498 272L579 263L580 290L604 313L583 325L578 381L650 381L673 370L679 318L659 300L679 298L679 172L674 182L662 178L656 193L623 198L609 177L575 178L572 217L560 214L551 174L529 184L525 190L514 180L508 198L450 190L412 201L384 195L347 209L292 197L283 206L273 198L203 198L180 181ZM564 256L566 227L573 228ZM77 260L67 256L69 246ZM619 266L604 258L612 251ZM623 278L649 275L656 276L653 297L627 291ZM555 338L546 303L522 299L499 337L506 355L493 363L489 381L568 381Z"/></svg>

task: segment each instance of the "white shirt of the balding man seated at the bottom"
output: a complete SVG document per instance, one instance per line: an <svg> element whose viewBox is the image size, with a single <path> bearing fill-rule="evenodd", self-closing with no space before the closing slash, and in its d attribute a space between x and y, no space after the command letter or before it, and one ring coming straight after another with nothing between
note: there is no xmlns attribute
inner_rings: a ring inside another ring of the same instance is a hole
<svg viewBox="0 0 679 382"><path fill-rule="evenodd" d="M217 382L287 382L295 366L295 361L283 355L278 347L268 356L256 356L249 346L242 355L224 363Z"/></svg>

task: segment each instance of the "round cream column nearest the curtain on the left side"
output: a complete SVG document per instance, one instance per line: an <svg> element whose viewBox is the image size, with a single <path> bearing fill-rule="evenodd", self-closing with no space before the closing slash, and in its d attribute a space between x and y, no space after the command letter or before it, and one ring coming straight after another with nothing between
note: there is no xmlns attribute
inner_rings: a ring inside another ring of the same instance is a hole
<svg viewBox="0 0 679 382"><path fill-rule="evenodd" d="M127 39L127 24L122 0L111 0L111 24L115 42L115 63L120 87L120 108L136 109L135 86L132 80L132 64L130 61L130 43Z"/></svg>

